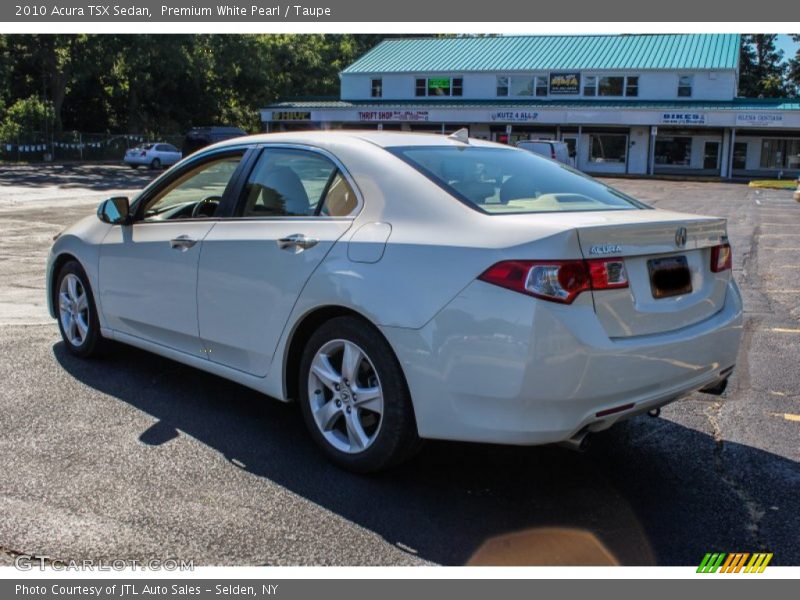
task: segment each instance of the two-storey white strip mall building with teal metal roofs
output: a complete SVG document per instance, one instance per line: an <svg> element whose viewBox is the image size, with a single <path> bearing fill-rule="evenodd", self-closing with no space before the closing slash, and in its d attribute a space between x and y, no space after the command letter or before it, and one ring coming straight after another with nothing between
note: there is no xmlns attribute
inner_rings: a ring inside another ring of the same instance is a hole
<svg viewBox="0 0 800 600"><path fill-rule="evenodd" d="M279 102L267 131L401 129L558 139L595 174L800 175L800 99L740 98L730 34L388 39L336 99Z"/></svg>

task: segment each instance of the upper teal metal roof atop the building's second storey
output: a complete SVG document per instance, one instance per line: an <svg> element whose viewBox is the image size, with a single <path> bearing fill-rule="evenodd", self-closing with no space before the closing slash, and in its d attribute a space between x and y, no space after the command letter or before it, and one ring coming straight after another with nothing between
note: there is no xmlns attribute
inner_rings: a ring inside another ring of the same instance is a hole
<svg viewBox="0 0 800 600"><path fill-rule="evenodd" d="M736 69L738 34L539 35L384 40L343 74Z"/></svg>

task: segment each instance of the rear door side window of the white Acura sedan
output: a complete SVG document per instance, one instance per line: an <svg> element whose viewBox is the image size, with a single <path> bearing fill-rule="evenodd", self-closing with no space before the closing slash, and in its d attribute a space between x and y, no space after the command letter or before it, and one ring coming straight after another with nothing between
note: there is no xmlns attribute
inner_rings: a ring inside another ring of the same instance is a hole
<svg viewBox="0 0 800 600"><path fill-rule="evenodd" d="M243 194L243 217L338 216L355 198L330 159L289 148L264 150Z"/></svg>

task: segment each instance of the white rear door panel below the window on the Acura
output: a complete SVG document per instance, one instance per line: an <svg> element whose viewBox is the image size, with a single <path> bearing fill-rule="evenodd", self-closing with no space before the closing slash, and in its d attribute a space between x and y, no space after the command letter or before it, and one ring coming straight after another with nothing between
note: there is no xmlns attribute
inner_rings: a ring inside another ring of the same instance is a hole
<svg viewBox="0 0 800 600"><path fill-rule="evenodd" d="M311 273L351 219L220 221L203 241L197 280L200 337L209 359L264 377L289 313ZM278 240L317 240L296 252Z"/></svg>

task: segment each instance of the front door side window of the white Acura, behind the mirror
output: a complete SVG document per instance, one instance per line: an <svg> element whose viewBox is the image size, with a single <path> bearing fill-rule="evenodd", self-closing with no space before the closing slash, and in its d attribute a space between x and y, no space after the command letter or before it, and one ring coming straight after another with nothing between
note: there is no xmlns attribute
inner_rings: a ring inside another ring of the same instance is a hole
<svg viewBox="0 0 800 600"><path fill-rule="evenodd" d="M145 222L213 217L242 154L206 161L166 185L144 207Z"/></svg>

